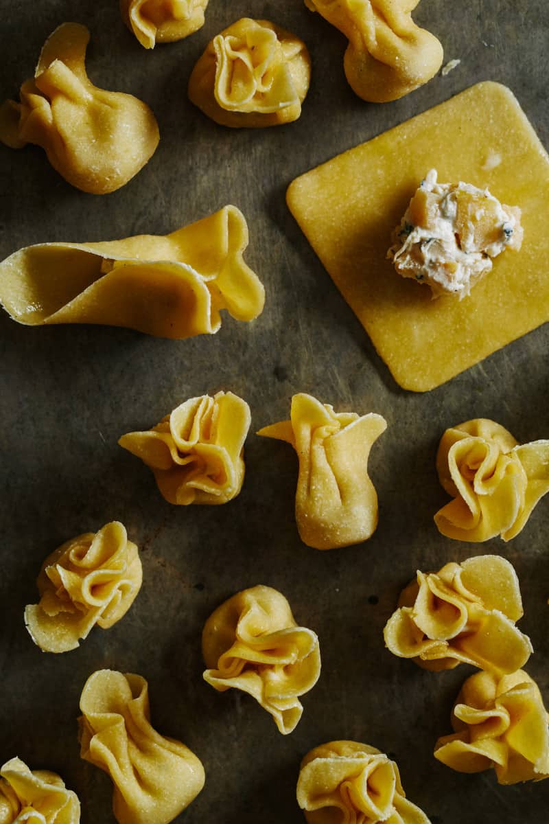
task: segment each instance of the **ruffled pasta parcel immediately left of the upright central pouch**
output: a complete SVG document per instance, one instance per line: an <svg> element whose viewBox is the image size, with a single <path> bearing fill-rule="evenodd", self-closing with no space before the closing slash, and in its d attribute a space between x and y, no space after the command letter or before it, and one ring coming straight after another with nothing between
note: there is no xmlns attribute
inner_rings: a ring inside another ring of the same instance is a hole
<svg viewBox="0 0 549 824"><path fill-rule="evenodd" d="M227 503L244 482L249 405L232 392L185 400L147 432L119 439L153 471L169 503Z"/></svg>

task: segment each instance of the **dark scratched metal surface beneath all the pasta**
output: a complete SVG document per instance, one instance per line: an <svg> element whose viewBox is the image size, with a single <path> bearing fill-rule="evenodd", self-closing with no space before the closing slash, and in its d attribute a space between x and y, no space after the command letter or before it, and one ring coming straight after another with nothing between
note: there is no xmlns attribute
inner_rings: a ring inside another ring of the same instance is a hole
<svg viewBox="0 0 549 824"><path fill-rule="evenodd" d="M387 105L353 95L342 73L345 40L300 0L211 0L202 30L153 53L125 29L115 0L76 5L0 2L2 99L30 75L47 35L76 15L91 29L92 80L147 101L161 144L136 178L104 197L72 189L37 147L0 147L2 258L39 241L170 232L234 203L249 219L247 260L265 283L267 304L251 325L226 318L218 335L182 342L106 327L29 329L0 315L2 763L19 755L57 770L77 790L84 824L114 821L111 784L80 760L76 724L86 677L113 667L147 677L156 728L181 738L205 765L206 787L178 821L298 824L300 757L340 737L393 753L408 797L433 824L545 820L549 782L500 788L490 772L459 775L435 761L433 745L450 732L449 710L470 671L433 675L393 658L382 629L416 568L438 569L478 552L505 555L522 583L520 627L536 650L528 671L549 702L549 502L509 545L449 541L432 522L445 501L434 466L444 428L486 416L522 442L548 437L549 328L426 395L399 390L295 225L284 193L301 172L483 79L513 89L547 146L546 0L423 0L416 20L440 37L445 60L462 62ZM309 45L313 80L295 124L231 131L187 100L188 75L207 41L244 15L276 21ZM253 434L238 499L219 508L165 503L151 473L117 439L188 397L221 388L249 401L252 431L286 417L295 391L337 409L384 414L388 431L370 460L380 501L375 536L327 553L302 545L293 517L295 454ZM40 653L22 611L35 601L42 560L68 537L114 518L141 547L142 592L119 624L94 630L77 651ZM322 676L289 737L253 700L220 695L201 677L204 620L255 583L284 592L297 620L321 641Z"/></svg>

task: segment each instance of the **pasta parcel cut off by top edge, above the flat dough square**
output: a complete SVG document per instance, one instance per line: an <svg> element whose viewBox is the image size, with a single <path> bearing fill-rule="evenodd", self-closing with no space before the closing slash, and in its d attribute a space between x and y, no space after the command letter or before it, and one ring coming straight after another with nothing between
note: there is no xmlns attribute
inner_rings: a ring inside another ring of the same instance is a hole
<svg viewBox="0 0 549 824"><path fill-rule="evenodd" d="M305 0L313 12L349 40L344 68L351 89L365 101L398 100L439 71L443 50L416 26L419 0Z"/></svg>

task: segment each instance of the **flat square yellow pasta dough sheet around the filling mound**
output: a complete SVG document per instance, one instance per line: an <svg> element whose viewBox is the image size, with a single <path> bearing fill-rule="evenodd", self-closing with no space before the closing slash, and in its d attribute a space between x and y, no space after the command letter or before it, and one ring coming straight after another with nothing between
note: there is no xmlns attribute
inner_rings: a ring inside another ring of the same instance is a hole
<svg viewBox="0 0 549 824"><path fill-rule="evenodd" d="M487 162L495 156L500 162ZM488 186L522 210L522 248L499 255L462 301L431 300L386 257L393 228L433 167L440 180ZM549 158L498 83L478 83L298 177L287 202L404 389L433 389L549 319Z"/></svg>

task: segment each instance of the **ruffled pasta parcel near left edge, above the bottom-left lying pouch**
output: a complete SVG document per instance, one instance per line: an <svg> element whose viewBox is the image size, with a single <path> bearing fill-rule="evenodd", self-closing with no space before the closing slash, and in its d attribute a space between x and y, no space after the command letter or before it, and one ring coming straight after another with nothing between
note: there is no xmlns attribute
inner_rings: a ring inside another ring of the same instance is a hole
<svg viewBox="0 0 549 824"><path fill-rule="evenodd" d="M45 559L37 581L40 603L25 624L46 653L76 649L95 624L107 630L133 604L142 584L137 546L114 521L67 541Z"/></svg>

